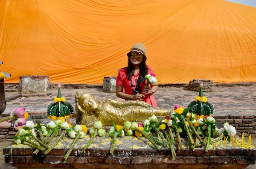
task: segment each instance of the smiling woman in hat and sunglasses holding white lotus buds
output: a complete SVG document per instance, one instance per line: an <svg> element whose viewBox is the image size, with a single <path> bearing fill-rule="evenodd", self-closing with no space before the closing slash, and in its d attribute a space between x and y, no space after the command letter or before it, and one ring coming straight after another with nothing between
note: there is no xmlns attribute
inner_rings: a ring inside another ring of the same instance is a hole
<svg viewBox="0 0 256 169"><path fill-rule="evenodd" d="M141 100L157 107L153 94L158 87L147 84L144 79L147 74L154 74L154 70L146 65L146 48L136 43L127 54L128 66L119 70L116 77L116 96L125 100ZM125 88L125 92L123 92Z"/></svg>

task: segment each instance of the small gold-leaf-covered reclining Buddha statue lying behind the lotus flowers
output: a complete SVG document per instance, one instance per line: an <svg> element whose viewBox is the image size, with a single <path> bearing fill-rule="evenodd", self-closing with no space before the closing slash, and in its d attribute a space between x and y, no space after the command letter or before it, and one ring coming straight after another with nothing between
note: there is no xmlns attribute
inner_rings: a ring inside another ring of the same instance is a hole
<svg viewBox="0 0 256 169"><path fill-rule="evenodd" d="M122 125L125 121L143 122L152 115L164 117L172 113L171 109L155 108L139 100L119 101L105 98L100 103L88 92L76 92L76 123L92 126L101 120L104 126Z"/></svg>

